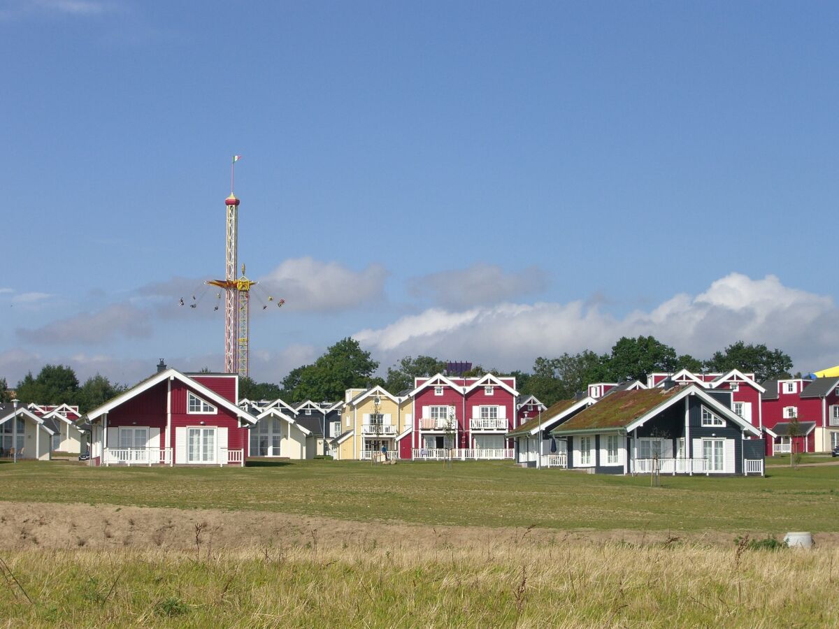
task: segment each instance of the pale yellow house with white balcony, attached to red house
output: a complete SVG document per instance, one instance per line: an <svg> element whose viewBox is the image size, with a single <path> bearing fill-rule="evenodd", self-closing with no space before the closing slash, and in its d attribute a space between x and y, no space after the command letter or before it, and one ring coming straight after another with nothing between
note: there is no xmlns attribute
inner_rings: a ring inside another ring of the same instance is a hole
<svg viewBox="0 0 839 629"><path fill-rule="evenodd" d="M387 451L388 459L399 459L403 439L410 448L414 429L412 403L383 387L347 389L341 408L341 429L332 440L338 460L369 459L371 453Z"/></svg>

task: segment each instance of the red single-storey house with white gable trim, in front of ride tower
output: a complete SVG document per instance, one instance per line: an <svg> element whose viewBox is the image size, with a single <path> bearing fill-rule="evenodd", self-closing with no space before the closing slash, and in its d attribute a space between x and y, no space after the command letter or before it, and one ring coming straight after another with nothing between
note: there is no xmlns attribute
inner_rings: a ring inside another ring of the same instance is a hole
<svg viewBox="0 0 839 629"><path fill-rule="evenodd" d="M248 427L232 373L159 368L87 413L91 465L244 465Z"/></svg>

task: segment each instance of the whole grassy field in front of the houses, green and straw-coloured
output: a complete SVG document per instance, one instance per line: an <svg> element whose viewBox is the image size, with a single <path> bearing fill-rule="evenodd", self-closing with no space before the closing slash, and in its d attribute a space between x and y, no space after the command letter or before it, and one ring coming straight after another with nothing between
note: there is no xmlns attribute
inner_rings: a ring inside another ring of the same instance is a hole
<svg viewBox="0 0 839 629"><path fill-rule="evenodd" d="M766 478L507 463L0 464L24 626L836 625L839 466ZM814 552L734 539L816 535Z"/></svg>

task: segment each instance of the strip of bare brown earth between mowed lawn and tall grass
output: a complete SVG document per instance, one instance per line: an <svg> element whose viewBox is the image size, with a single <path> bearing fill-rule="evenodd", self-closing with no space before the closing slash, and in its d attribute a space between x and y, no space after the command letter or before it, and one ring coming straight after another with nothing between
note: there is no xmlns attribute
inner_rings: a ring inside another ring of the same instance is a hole
<svg viewBox="0 0 839 629"><path fill-rule="evenodd" d="M742 533L742 532L740 532ZM763 538L755 533L755 538ZM734 534L627 529L434 527L425 524L354 522L328 517L258 511L117 507L50 502L0 502L0 548L283 548L313 544L376 543L400 546L482 547L498 543L580 541L693 542L731 546ZM819 548L839 547L839 533L817 533Z"/></svg>

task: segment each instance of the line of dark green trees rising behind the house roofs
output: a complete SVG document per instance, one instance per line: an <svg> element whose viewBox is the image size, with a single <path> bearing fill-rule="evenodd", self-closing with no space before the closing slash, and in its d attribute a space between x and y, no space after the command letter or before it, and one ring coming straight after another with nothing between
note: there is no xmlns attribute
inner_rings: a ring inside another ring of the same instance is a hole
<svg viewBox="0 0 839 629"><path fill-rule="evenodd" d="M289 403L307 399L336 402L349 388L367 389L381 385L389 392L399 393L414 387L414 377L446 371L446 361L434 356L404 356L388 367L384 377L375 375L378 366L369 351L348 337L329 346L314 362L292 369L279 384L242 378L239 395L252 400L283 398ZM495 367L474 365L465 375L480 376L489 372L497 376L514 376L519 392L535 395L550 406L560 399L573 397L578 391L585 391L591 382L636 379L645 382L650 373L677 372L682 368L691 372L728 372L736 368L754 373L758 382L762 382L789 377L792 359L779 349L770 350L764 344L738 340L701 360L689 354L678 354L654 336L623 336L612 346L612 351L603 354L584 350L552 358L539 356L530 372L505 372ZM78 404L81 412L86 413L125 389L124 385L112 383L99 374L80 385L69 366L46 365L38 376L29 372L18 382L17 396L23 403ZM8 398L6 381L0 379L0 401L8 401Z"/></svg>

